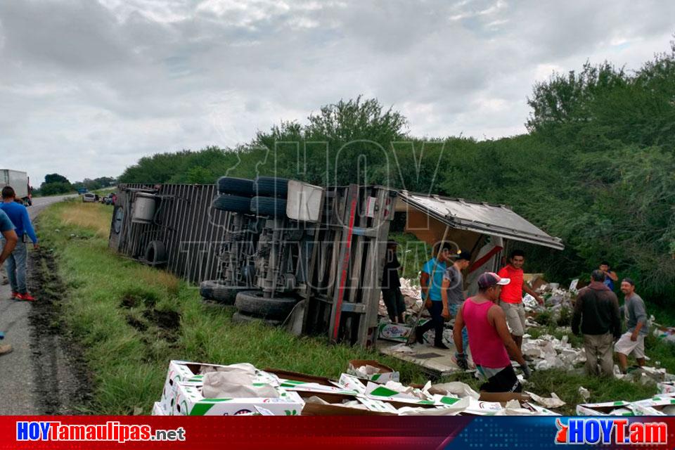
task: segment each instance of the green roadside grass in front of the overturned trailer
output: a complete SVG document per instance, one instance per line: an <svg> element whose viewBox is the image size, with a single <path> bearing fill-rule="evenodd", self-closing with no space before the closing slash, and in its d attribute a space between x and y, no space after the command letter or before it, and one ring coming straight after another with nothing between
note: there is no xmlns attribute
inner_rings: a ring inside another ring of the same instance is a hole
<svg viewBox="0 0 675 450"><path fill-rule="evenodd" d="M39 220L43 246L55 250L58 272L68 286L61 308L63 319L82 343L94 377L94 400L84 411L129 414L140 407L149 413L160 397L171 359L250 362L260 368L328 377L345 371L349 359L378 359L400 371L403 383L427 380L418 366L366 349L328 345L323 338L296 338L278 328L232 323L233 308L205 304L194 286L110 252L103 229L110 223L111 213L105 205L75 200L49 207ZM409 237L401 235L397 240L406 243ZM411 252L401 261L406 264L406 276L416 278L417 267L426 256L422 249L408 248ZM148 311L180 314L179 328L162 328ZM546 333L562 338L567 330L550 323L531 328L529 333L533 338ZM570 342L580 346L581 338L570 336ZM652 363L660 361L662 367L675 372L675 346L650 336L647 354ZM476 390L480 385L466 373L439 381L446 380L462 380ZM579 368L539 371L531 381L527 390L546 397L555 392L565 400L567 406L560 409L563 413L574 413L574 406L581 402L580 385L591 391L590 401L630 401L656 392L653 384L589 378L579 373Z"/></svg>

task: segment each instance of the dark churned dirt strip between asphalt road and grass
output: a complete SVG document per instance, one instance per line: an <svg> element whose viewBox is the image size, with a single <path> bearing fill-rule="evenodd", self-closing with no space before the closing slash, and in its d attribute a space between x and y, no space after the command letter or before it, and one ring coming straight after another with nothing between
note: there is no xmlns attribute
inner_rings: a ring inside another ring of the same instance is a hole
<svg viewBox="0 0 675 450"><path fill-rule="evenodd" d="M29 315L34 390L42 414L81 414L91 404L91 373L84 351L63 323L67 289L51 251L29 252L29 288L37 297Z"/></svg>

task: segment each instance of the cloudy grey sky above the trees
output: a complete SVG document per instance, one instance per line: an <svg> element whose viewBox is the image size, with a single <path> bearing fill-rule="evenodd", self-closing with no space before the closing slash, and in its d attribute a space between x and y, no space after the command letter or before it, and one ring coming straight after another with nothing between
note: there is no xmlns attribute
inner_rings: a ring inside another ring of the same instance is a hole
<svg viewBox="0 0 675 450"><path fill-rule="evenodd" d="M532 84L669 49L673 1L1 0L0 151L33 184L375 96L415 136L525 131Z"/></svg>

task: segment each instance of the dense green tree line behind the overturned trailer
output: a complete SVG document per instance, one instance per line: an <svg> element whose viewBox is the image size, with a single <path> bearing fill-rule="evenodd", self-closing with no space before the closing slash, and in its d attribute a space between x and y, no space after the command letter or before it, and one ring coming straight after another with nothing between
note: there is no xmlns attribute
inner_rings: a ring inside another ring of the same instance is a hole
<svg viewBox="0 0 675 450"><path fill-rule="evenodd" d="M675 43L634 72L605 62L553 74L527 101L527 134L476 141L418 139L399 112L359 97L236 148L141 158L120 182L277 174L506 204L565 242L531 249L531 270L561 280L607 259L651 299L675 297Z"/></svg>

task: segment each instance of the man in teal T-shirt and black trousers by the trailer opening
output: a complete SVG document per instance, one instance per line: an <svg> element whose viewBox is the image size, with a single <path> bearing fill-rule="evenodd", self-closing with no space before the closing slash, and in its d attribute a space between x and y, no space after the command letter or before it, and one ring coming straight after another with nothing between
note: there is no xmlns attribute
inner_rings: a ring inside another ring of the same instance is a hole
<svg viewBox="0 0 675 450"><path fill-rule="evenodd" d="M415 334L417 342L424 343L423 335L432 328L435 330L434 347L447 349L443 343L443 324L445 319L449 319L449 311L443 308L443 299L441 297L441 287L443 285L443 275L447 269L447 262L450 259L451 245L444 243L441 251L437 253L438 259L433 257L422 268L420 276L420 286L422 286L422 300L425 302L431 320L423 326L416 328ZM444 316L445 314L445 316Z"/></svg>

